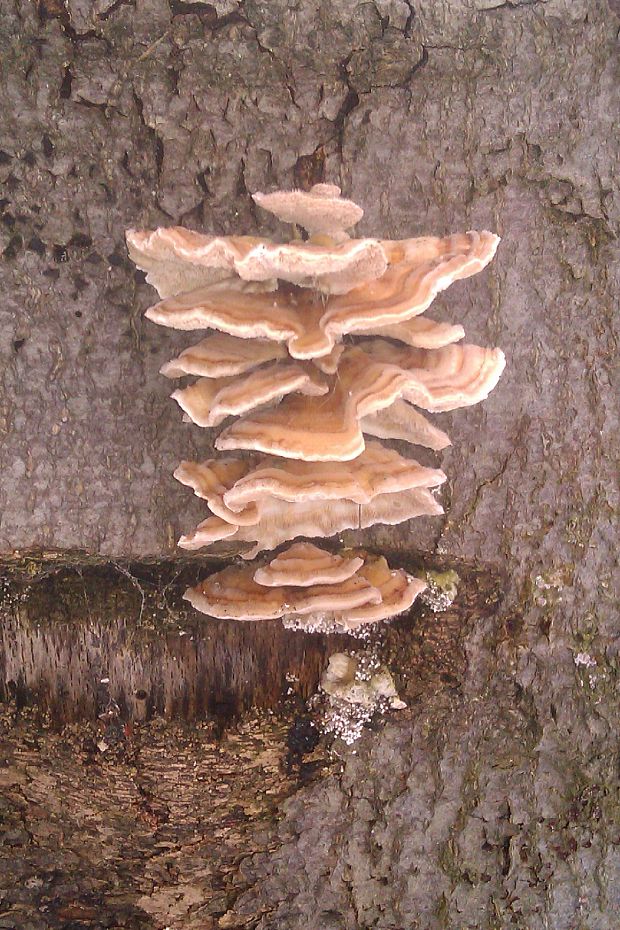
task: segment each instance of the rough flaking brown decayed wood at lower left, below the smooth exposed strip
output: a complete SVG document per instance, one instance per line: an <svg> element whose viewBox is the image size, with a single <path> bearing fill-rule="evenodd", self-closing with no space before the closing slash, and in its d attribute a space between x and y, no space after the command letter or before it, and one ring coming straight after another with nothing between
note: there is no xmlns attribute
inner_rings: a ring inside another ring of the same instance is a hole
<svg viewBox="0 0 620 930"><path fill-rule="evenodd" d="M244 854L264 852L287 775L287 725L92 724L59 736L0 711L0 921L8 928L213 930ZM322 765L322 760L317 763ZM262 838L261 838L262 834Z"/></svg>

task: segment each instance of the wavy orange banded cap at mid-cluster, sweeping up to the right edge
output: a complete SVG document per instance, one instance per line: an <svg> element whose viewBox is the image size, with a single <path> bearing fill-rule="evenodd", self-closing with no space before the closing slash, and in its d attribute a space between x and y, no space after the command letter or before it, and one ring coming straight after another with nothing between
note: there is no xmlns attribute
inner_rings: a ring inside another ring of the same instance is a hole
<svg viewBox="0 0 620 930"><path fill-rule="evenodd" d="M389 421L389 414L387 420L373 420L378 411L400 399L426 410L477 403L495 386L503 367L499 349L460 345L412 349L369 340L360 348L345 349L338 380L328 394L287 397L276 408L237 420L220 433L215 445L220 450L250 449L304 461L349 461L363 452L364 431L385 435L381 422ZM406 408L401 405L398 412L406 419ZM431 448L448 444L445 434L429 428L423 418L414 419L419 432L426 433L422 444Z"/></svg>

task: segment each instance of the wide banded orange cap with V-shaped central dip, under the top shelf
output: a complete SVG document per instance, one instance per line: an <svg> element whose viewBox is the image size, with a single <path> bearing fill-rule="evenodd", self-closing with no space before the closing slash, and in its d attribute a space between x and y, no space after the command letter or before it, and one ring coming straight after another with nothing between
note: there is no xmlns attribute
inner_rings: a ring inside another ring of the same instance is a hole
<svg viewBox="0 0 620 930"><path fill-rule="evenodd" d="M403 260L384 274L379 272L380 277L374 280L369 277L374 276L376 268L364 246L366 251L362 249L357 256L359 267L351 260L346 271L359 273L355 287L349 281L351 290L332 293L326 299L311 289L317 278L308 278L310 289L305 291L280 287L269 293L254 292L243 287L244 282L230 280L168 297L150 307L146 316L175 329L212 328L244 339L285 342L293 358L320 358L329 355L347 333L377 332L423 313L440 291L455 280L475 274L490 261L497 237L488 237L491 233L469 232L431 240L435 257L423 262ZM354 251L359 243L373 242L376 240L351 240L332 251L337 255L337 250L345 246ZM445 326L442 331L445 338ZM450 339L457 335L460 338L460 329L452 330Z"/></svg>

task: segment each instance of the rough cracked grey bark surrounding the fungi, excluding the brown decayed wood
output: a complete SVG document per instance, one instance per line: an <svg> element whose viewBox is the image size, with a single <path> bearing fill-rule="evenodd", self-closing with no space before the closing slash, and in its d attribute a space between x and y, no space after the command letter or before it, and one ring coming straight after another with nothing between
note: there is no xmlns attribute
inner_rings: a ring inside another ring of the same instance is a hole
<svg viewBox="0 0 620 930"><path fill-rule="evenodd" d="M448 516L364 537L500 570L502 606L464 621L457 688L410 691L400 722L293 794L214 919L615 928L617 4L15 0L2 16L6 558L161 558L199 516L169 475L204 440L157 376L183 339L141 320L126 226L266 229L249 191L325 178L364 205L363 233L503 237L439 304L508 355L485 404L437 418Z"/></svg>

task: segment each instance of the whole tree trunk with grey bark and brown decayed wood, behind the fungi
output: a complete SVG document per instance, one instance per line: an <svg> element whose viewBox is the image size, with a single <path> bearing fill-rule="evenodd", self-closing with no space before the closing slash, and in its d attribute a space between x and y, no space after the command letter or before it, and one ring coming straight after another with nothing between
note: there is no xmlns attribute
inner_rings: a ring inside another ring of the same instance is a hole
<svg viewBox="0 0 620 930"><path fill-rule="evenodd" d="M617 0L0 16L0 928L614 930ZM310 764L302 698L350 644L182 613L171 472L205 439L123 234L275 231L250 192L318 180L360 234L497 231L433 315L508 364L434 419L445 520L347 536L459 596L379 643L408 709Z"/></svg>

